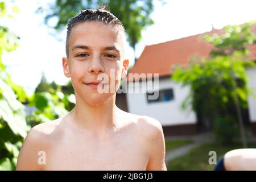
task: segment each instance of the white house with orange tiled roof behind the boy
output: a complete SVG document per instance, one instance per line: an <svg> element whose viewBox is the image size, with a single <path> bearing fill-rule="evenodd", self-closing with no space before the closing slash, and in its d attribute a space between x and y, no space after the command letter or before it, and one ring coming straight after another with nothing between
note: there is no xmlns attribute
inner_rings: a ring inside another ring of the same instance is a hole
<svg viewBox="0 0 256 182"><path fill-rule="evenodd" d="M254 26L254 31L256 32L256 26ZM213 28L208 34L220 32L222 30ZM150 95L148 92L127 92L127 94L117 94L117 105L130 113L148 115L158 119L163 126L165 135L193 135L201 131L201 122L197 113L191 109L181 109L182 102L189 94L189 87L182 88L180 84L170 79L173 65L187 65L195 54L209 55L213 47L204 42L200 38L201 35L146 46L142 55L129 71L129 73L138 73L138 75L145 73L146 77L139 77L137 80L127 77L127 90L136 89L141 85L144 85L145 88L148 75L158 73L159 97L157 100L148 100L148 95ZM250 46L249 49L251 60L256 61L256 45ZM249 88L253 89L256 96L256 69L247 70L246 73L249 76ZM152 89L154 90L154 88ZM251 129L256 134L256 97L249 96L248 112Z"/></svg>

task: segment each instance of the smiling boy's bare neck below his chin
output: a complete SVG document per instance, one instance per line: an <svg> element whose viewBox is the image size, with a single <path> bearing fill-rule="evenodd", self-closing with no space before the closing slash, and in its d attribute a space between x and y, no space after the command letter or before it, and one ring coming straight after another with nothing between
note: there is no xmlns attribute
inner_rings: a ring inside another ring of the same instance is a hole
<svg viewBox="0 0 256 182"><path fill-rule="evenodd" d="M104 133L118 127L118 110L115 105L115 96L100 106L92 106L83 100L79 100L71 111L71 117L78 126L84 129L94 133Z"/></svg>

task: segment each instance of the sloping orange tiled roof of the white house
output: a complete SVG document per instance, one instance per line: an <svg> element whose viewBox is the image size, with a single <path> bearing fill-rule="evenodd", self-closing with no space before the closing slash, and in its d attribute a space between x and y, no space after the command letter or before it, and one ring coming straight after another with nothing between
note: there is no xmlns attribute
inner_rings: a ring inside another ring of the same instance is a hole
<svg viewBox="0 0 256 182"><path fill-rule="evenodd" d="M256 26L253 29L256 30ZM221 32L223 30L213 29L208 34ZM208 56L213 46L206 43L201 35L203 34L146 46L129 73L159 73L159 77L168 76L173 65L187 65L191 57L196 54ZM256 59L256 45L250 46L249 49L252 50L251 56Z"/></svg>

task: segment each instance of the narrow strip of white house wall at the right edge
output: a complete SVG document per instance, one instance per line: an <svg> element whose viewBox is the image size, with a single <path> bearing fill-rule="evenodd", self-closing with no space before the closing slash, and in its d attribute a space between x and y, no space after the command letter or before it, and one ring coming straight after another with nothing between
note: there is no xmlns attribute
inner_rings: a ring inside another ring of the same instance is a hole
<svg viewBox="0 0 256 182"><path fill-rule="evenodd" d="M250 121L256 122L256 68L248 69L246 73L249 89L253 93L253 96L248 96Z"/></svg>

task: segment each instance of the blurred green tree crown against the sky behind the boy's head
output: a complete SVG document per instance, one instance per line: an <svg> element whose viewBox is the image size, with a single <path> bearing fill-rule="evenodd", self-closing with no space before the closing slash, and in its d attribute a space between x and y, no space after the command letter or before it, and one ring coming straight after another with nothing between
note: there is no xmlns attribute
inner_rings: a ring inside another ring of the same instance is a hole
<svg viewBox="0 0 256 182"><path fill-rule="evenodd" d="M164 3L162 0L158 1ZM111 12L121 20L126 27L130 46L135 50L135 45L142 38L142 30L145 27L154 24L154 21L150 18L150 14L154 10L152 0L56 0L49 5L45 22L48 24L49 19L57 18L57 23L53 28L56 30L63 30L68 23L68 19L75 16L80 10L93 9L102 4L108 5Z"/></svg>

